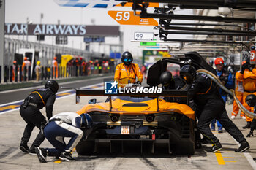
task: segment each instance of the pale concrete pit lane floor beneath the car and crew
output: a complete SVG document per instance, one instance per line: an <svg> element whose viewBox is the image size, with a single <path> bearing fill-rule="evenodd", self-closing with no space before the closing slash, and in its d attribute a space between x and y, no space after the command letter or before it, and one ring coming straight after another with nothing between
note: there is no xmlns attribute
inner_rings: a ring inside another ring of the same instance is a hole
<svg viewBox="0 0 256 170"><path fill-rule="evenodd" d="M92 85L90 88L99 88ZM70 94L63 98L57 98L53 108L53 114L59 112L75 112L89 98L94 96L83 96L80 104L75 104L75 95ZM104 101L105 98L97 97L97 101ZM230 115L233 105L227 105L227 112ZM45 109L41 110L45 114ZM237 117L233 120L244 135L249 133L249 129L243 130L245 120ZM99 154L91 156L78 155L73 152L75 162L65 162L56 158L47 158L48 163L39 163L36 155L24 154L19 150L20 138L25 128L25 122L20 117L19 111L6 112L0 115L0 169L256 169L256 163L252 158L256 157L255 136L248 138L251 148L244 153L236 153L238 148L236 141L224 131L223 134L214 134L222 143L223 149L220 152L211 153L211 145L203 145L203 148L196 150L192 156L176 156L166 153L156 153L154 155L139 152L127 154ZM39 132L34 129L29 145ZM41 147L51 147L45 139Z"/></svg>

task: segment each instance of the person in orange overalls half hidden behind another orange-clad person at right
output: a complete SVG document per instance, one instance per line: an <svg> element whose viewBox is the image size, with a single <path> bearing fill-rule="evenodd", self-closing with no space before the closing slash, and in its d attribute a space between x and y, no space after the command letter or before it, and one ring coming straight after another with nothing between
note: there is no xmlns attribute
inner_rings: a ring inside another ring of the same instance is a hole
<svg viewBox="0 0 256 170"><path fill-rule="evenodd" d="M246 63L246 61L243 61L242 65L244 65ZM238 74L240 73L240 71L236 72L236 89L235 89L235 94L236 94L236 98L238 98L238 101L240 101L240 103L243 103L243 94L244 94L244 88L243 88L243 81L238 79ZM236 104L236 101L233 102L233 111L231 113L231 119L235 119L236 116L238 115L239 112L239 107ZM246 117L244 116L244 112L241 112L240 117L242 117L242 119L246 119Z"/></svg>

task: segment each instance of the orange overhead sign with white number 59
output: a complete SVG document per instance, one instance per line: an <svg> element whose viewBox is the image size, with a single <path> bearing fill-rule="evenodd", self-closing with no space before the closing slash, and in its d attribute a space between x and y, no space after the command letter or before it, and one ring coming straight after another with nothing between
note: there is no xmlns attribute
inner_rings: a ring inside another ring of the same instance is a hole
<svg viewBox="0 0 256 170"><path fill-rule="evenodd" d="M108 11L108 15L121 25L158 26L153 18L140 18L133 11Z"/></svg>

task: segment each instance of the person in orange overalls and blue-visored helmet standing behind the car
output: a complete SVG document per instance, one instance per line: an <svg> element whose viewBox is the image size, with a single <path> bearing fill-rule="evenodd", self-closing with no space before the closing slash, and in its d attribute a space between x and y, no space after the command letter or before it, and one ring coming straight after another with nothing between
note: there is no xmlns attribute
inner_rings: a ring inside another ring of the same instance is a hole
<svg viewBox="0 0 256 170"><path fill-rule="evenodd" d="M124 87L129 83L135 83L136 77L138 78L137 84L141 84L143 74L140 72L140 67L137 63L132 63L132 54L128 51L124 52L121 56L120 63L116 66L115 81L118 82L118 87Z"/></svg>

